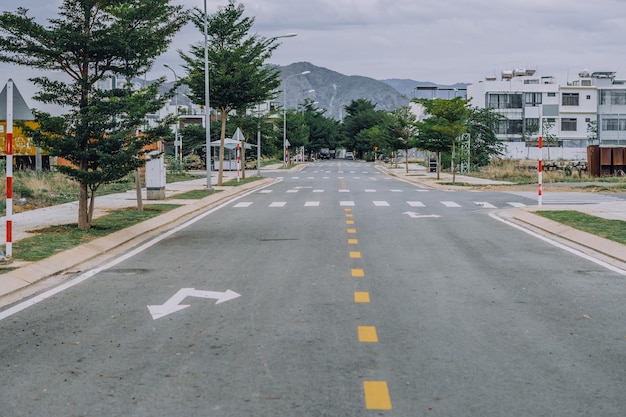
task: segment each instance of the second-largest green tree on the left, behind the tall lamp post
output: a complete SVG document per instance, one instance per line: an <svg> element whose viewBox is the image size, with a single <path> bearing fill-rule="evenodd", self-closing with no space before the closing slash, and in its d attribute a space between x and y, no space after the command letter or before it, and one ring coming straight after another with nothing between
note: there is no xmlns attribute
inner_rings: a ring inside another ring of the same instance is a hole
<svg viewBox="0 0 626 417"><path fill-rule="evenodd" d="M230 0L228 5L207 18L209 97L211 107L218 110L221 120L219 173L222 184L226 122L231 111L246 109L275 97L280 86L279 70L266 65L279 43L275 38L249 35L254 18L243 17L243 4ZM191 21L204 33L204 11L194 8ZM197 104L205 102L204 42L190 47L190 53L179 51L186 62L186 84Z"/></svg>

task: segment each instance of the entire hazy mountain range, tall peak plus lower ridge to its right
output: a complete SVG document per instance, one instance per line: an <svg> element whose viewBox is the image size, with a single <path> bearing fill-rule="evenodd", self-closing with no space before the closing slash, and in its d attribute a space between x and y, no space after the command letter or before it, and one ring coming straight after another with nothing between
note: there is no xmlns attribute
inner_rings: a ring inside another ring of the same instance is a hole
<svg viewBox="0 0 626 417"><path fill-rule="evenodd" d="M283 82L277 97L280 106L288 109L302 105L308 98L317 102L317 107L326 110L326 117L341 120L344 107L353 100L367 99L379 110L393 111L407 106L413 97L451 98L464 95L468 84L438 85L427 81L408 79L375 80L358 75L344 75L309 62L297 62L280 67ZM310 71L305 75L303 72ZM417 88L420 87L420 88ZM314 90L314 91L311 91ZM285 100L286 99L286 100Z"/></svg>

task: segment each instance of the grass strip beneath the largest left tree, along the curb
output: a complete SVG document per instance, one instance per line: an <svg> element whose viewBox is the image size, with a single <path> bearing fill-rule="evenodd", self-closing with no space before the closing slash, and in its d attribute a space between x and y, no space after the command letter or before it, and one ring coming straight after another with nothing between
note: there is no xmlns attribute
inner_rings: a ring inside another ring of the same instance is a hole
<svg viewBox="0 0 626 417"><path fill-rule="evenodd" d="M13 244L13 259L36 262L56 253L74 248L99 237L117 232L179 207L175 204L150 204L143 211L136 208L112 210L95 219L91 229L80 230L76 223L48 226L31 230L36 235L20 239Z"/></svg>

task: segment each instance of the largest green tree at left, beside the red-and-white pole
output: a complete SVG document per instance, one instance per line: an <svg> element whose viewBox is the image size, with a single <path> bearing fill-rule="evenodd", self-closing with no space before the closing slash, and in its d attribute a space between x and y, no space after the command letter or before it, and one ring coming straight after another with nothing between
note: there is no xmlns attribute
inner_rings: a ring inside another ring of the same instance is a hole
<svg viewBox="0 0 626 417"><path fill-rule="evenodd" d="M27 10L0 15L0 61L64 73L63 81L42 76L35 99L69 109L60 117L35 112L41 128L33 140L72 165L59 170L80 186L78 227L88 230L98 187L141 166L144 146L159 130L138 134L145 115L161 108L156 88L135 91L133 77L146 73L186 21L169 0L64 0L48 26ZM124 86L104 91L110 77Z"/></svg>

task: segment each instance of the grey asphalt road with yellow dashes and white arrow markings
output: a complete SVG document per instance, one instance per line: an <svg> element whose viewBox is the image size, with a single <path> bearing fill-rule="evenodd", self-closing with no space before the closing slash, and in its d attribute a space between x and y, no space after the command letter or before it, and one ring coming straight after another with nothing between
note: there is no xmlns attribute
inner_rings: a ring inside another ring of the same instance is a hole
<svg viewBox="0 0 626 417"><path fill-rule="evenodd" d="M0 415L624 415L626 280L516 204L285 174L0 321Z"/></svg>

